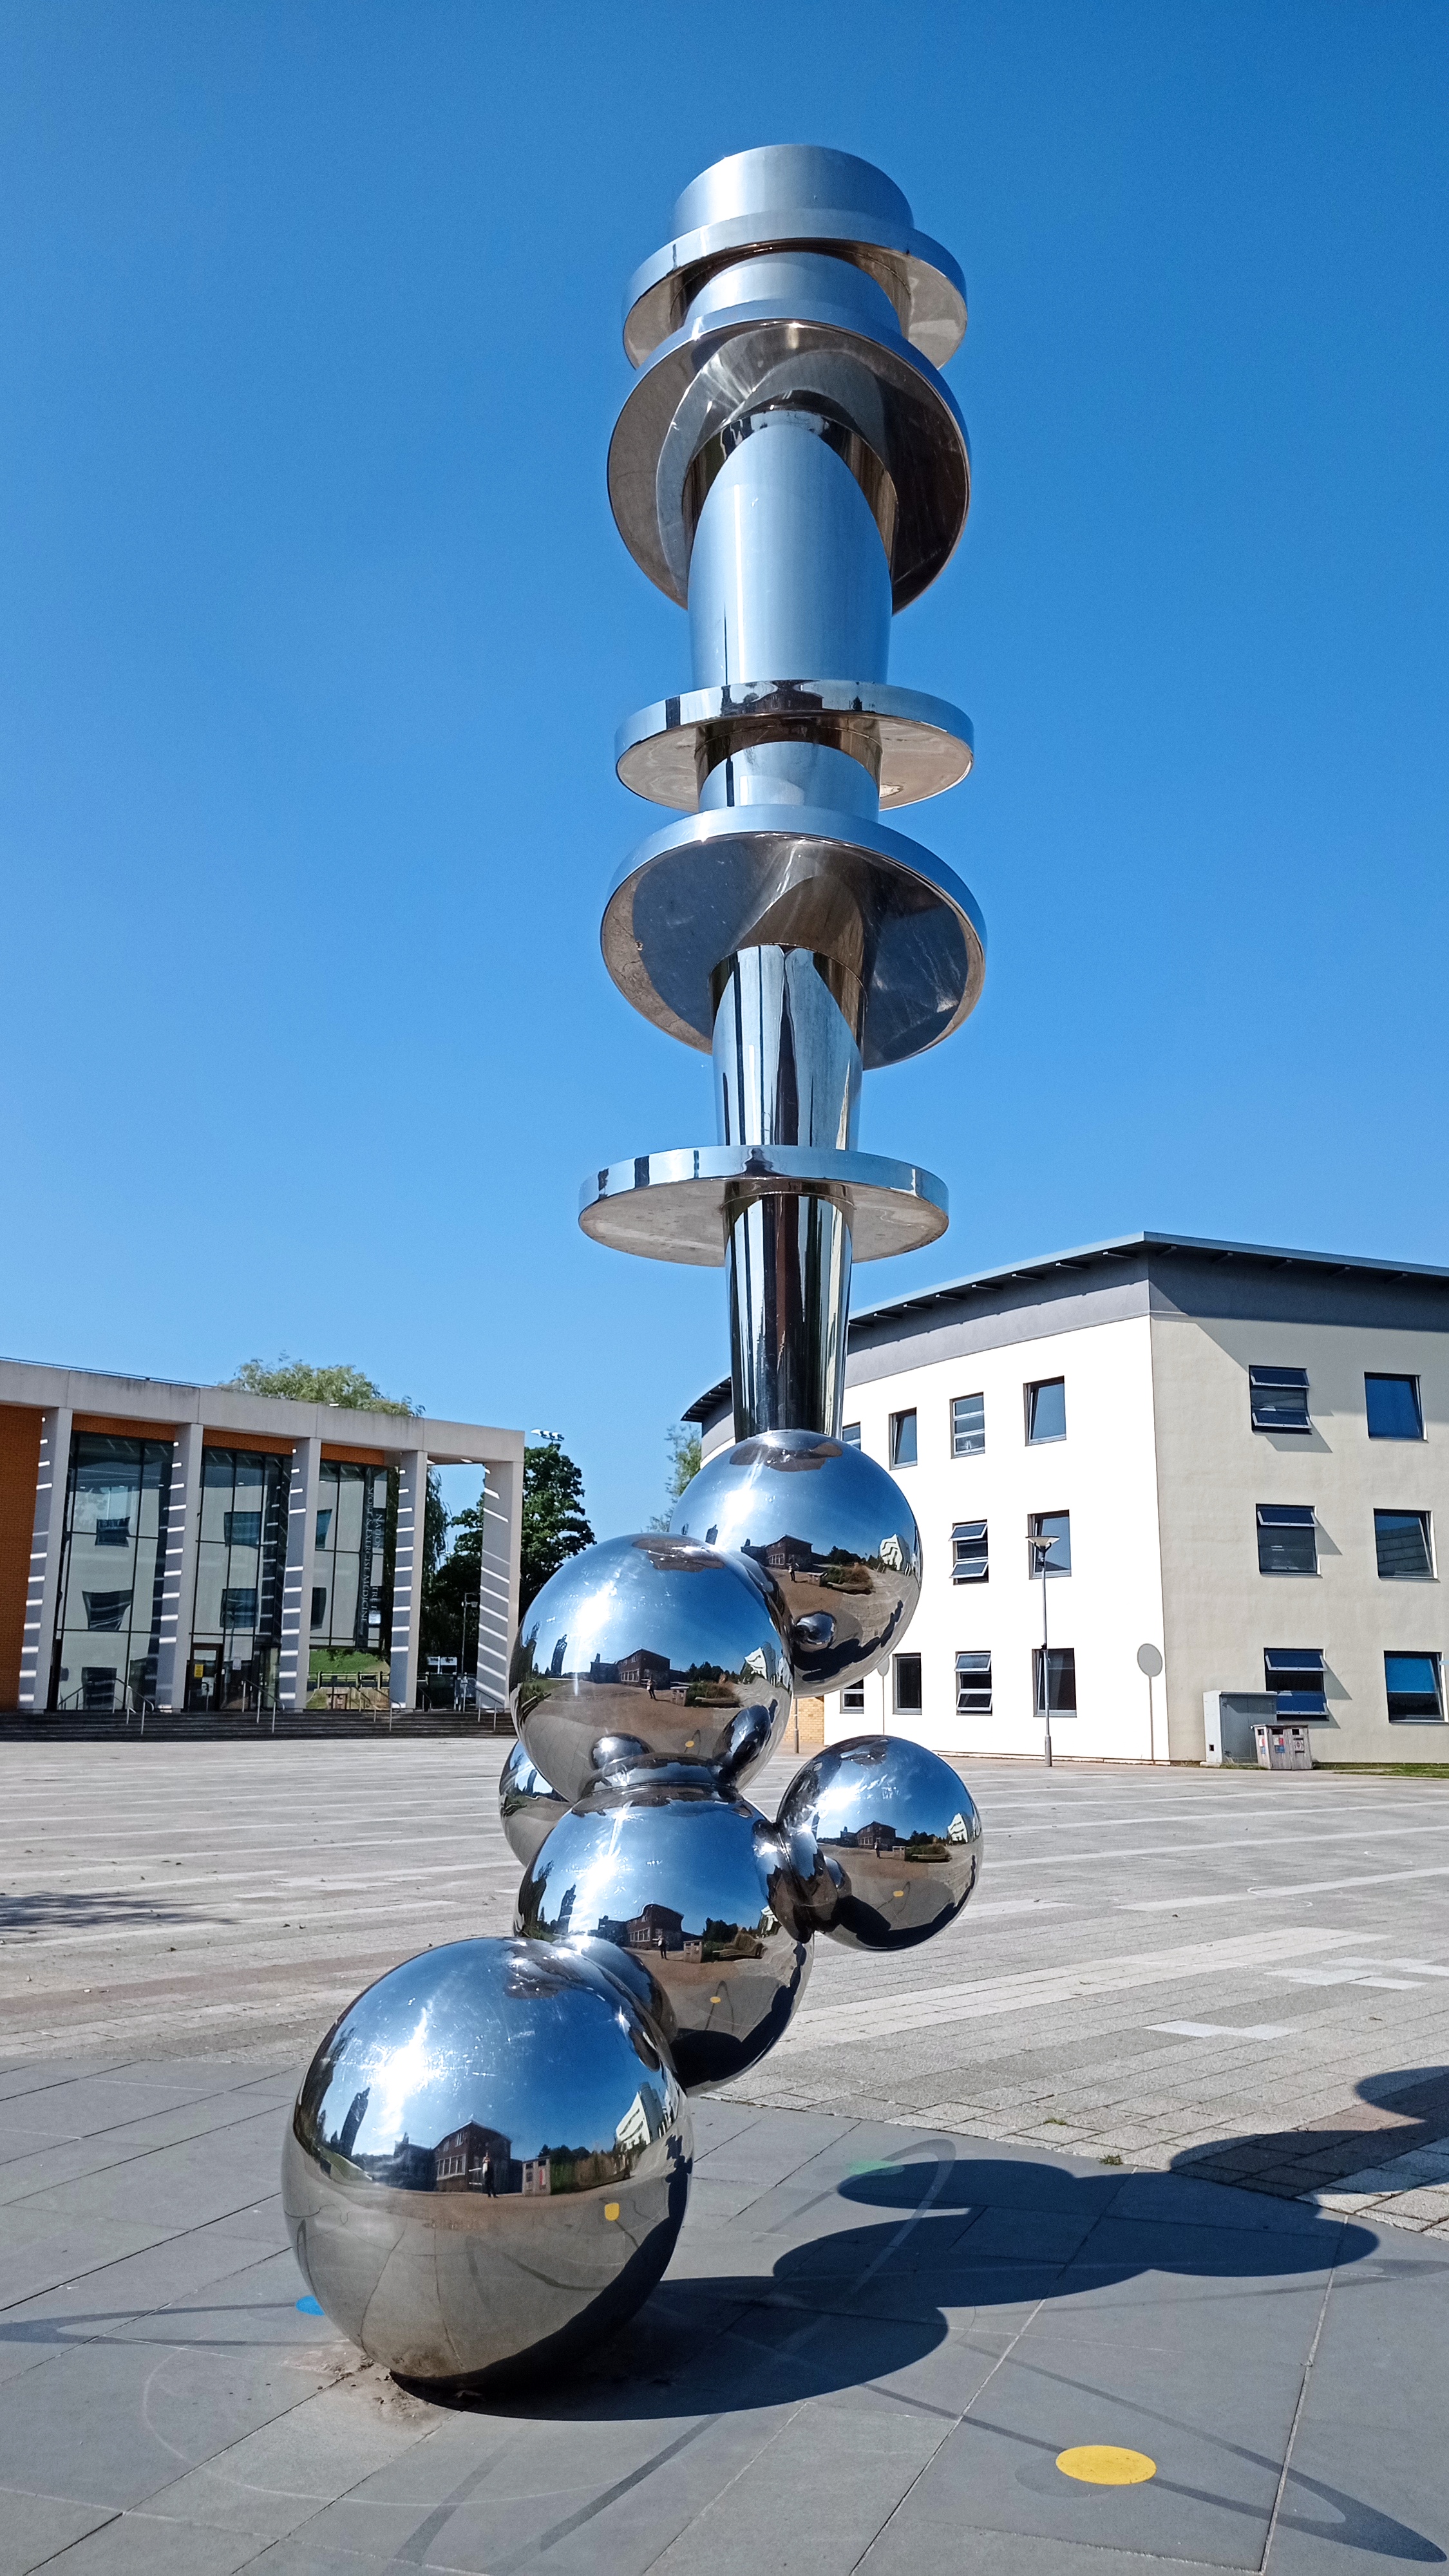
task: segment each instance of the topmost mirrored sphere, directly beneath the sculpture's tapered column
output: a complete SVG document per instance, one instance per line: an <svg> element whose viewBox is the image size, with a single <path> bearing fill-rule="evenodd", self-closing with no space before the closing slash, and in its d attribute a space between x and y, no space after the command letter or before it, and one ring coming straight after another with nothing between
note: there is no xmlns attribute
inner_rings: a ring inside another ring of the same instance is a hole
<svg viewBox="0 0 1449 2576"><path fill-rule="evenodd" d="M920 1533L892 1476L822 1432L717 1450L670 1530L740 1548L779 1584L797 1690L846 1690L900 1646L920 1600Z"/></svg>

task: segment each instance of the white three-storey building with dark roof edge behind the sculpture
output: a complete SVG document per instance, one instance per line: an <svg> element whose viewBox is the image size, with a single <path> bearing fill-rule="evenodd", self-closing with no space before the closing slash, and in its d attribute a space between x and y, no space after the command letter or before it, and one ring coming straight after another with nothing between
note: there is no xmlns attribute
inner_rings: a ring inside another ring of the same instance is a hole
<svg viewBox="0 0 1449 2576"><path fill-rule="evenodd" d="M828 1736L1039 1759L1047 1610L1057 1759L1201 1762L1207 1690L1449 1759L1449 1270L1134 1234L866 1309L846 1388L926 1582ZM691 1419L709 1455L727 1386Z"/></svg>

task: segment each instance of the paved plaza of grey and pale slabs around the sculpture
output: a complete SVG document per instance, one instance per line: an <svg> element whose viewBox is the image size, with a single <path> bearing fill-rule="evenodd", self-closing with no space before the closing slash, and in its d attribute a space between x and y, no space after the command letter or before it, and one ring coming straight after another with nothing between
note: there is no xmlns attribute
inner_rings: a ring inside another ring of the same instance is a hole
<svg viewBox="0 0 1449 2576"><path fill-rule="evenodd" d="M972 1765L982 1896L817 1945L639 2318L436 2406L276 2156L366 1978L508 1927L500 1757L0 1752L0 2576L1446 2561L1444 1785Z"/></svg>

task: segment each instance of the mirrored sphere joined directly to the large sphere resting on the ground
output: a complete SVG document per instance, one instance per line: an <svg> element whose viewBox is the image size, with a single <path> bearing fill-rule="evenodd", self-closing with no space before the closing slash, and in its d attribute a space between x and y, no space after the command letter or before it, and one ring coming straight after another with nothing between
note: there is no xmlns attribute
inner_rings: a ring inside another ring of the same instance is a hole
<svg viewBox="0 0 1449 2576"><path fill-rule="evenodd" d="M518 1888L531 1940L611 1942L655 1978L676 2074L706 2092L789 2025L810 1940L781 1834L706 1788L601 1788L554 1824Z"/></svg>

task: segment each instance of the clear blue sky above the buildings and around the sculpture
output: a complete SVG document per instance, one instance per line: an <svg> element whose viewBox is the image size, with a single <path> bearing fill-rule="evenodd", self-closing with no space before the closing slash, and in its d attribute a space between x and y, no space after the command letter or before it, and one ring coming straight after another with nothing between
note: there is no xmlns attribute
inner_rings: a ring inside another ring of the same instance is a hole
<svg viewBox="0 0 1449 2576"><path fill-rule="evenodd" d="M892 675L990 927L861 1141L951 1231L856 1301L1137 1226L1449 1262L1449 15L730 18L433 0L0 15L0 1347L345 1358L557 1427L601 1535L727 1363L575 1226L712 1139L598 956L686 621L603 489L621 286L722 152L882 162L962 258L964 544Z"/></svg>

